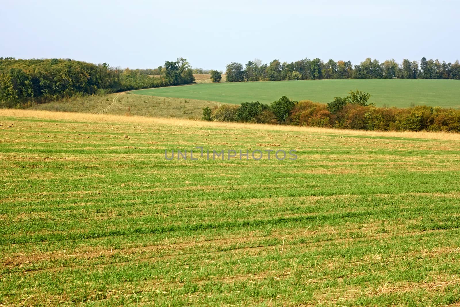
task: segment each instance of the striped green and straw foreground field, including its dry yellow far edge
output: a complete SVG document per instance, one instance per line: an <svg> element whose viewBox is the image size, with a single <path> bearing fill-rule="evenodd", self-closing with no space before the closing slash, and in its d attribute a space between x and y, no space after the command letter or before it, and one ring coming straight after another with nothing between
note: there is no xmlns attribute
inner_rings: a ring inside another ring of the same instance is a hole
<svg viewBox="0 0 460 307"><path fill-rule="evenodd" d="M458 134L0 125L0 306L459 306ZM165 160L195 146L298 159Z"/></svg>

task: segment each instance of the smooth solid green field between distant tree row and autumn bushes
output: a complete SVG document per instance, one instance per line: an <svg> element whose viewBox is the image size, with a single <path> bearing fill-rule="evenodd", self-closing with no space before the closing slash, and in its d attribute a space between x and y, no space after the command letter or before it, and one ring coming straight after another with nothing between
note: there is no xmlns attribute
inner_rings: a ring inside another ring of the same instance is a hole
<svg viewBox="0 0 460 307"><path fill-rule="evenodd" d="M141 95L193 98L228 104L259 101L270 104L281 96L295 100L328 103L335 96L345 97L350 90L372 94L378 106L407 108L411 104L460 107L459 80L346 79L265 82L223 82L190 86L162 87L133 91Z"/></svg>

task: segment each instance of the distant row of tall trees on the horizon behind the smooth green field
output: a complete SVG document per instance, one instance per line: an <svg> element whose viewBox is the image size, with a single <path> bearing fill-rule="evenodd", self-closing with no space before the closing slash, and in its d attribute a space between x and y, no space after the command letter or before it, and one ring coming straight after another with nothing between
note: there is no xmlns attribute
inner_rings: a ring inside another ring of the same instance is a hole
<svg viewBox="0 0 460 307"><path fill-rule="evenodd" d="M439 60L418 61L404 59L398 64L394 59L380 63L371 58L360 64L352 65L351 61L323 62L319 58L304 58L296 62L273 60L270 64L262 64L255 59L242 64L232 62L227 65L227 81L282 81L282 80L317 80L317 79L456 79L460 80L459 61L442 63Z"/></svg>

